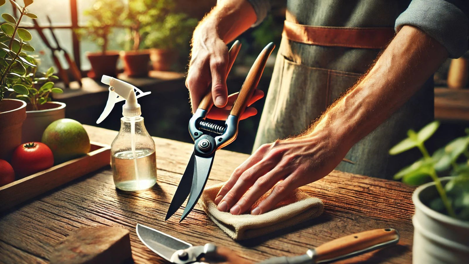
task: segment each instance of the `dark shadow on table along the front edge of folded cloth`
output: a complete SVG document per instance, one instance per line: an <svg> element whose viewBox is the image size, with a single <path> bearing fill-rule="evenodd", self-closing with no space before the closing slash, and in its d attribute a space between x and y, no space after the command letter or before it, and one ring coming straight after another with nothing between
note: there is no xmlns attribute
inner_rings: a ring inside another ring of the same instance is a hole
<svg viewBox="0 0 469 264"><path fill-rule="evenodd" d="M277 238L277 237L282 236L284 234L289 234L289 233L292 233L292 232L295 232L295 231L298 231L298 230L302 230L302 229L305 229L305 228L308 228L308 227L311 227L311 226L314 226L314 225L318 225L318 224L330 221L332 218L333 218L333 216L330 213L323 212L317 218L304 221L304 222L302 222L300 224L297 224L295 226L288 226L286 228L277 230L277 231L272 232L270 234L262 235L260 237L255 237L255 238L251 238L251 239L238 241L238 243L240 245L244 246L244 247L255 247L255 246L258 246L258 245L264 243L265 241Z"/></svg>

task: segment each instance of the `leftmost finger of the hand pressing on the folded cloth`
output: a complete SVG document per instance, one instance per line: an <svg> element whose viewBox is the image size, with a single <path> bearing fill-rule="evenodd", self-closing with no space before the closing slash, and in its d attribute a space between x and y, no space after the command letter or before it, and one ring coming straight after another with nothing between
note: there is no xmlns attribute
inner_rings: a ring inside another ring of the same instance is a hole
<svg viewBox="0 0 469 264"><path fill-rule="evenodd" d="M239 176L250 168L251 166L254 166L257 162L262 160L264 157L264 154L266 151L269 149L269 144L264 144L260 146L256 152L254 152L249 158L247 158L240 166L238 166L233 173L231 173L230 179L225 183L225 185L219 190L216 198L215 198L215 204L219 204L221 199L227 194L227 192L234 186L236 181L238 181Z"/></svg>

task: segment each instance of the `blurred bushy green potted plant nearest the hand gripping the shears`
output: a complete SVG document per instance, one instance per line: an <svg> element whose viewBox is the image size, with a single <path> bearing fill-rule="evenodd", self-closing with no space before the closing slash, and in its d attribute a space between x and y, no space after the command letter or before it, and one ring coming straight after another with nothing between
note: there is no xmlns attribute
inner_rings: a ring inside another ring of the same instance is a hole
<svg viewBox="0 0 469 264"><path fill-rule="evenodd" d="M183 13L169 13L145 29L144 47L150 49L154 70L167 71L181 53L187 54L197 19Z"/></svg>

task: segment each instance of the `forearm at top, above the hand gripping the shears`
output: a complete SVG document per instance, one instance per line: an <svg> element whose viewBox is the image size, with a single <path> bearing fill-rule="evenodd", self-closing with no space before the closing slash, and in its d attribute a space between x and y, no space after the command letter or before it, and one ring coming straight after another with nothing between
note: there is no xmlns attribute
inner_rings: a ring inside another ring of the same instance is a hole
<svg viewBox="0 0 469 264"><path fill-rule="evenodd" d="M204 17L194 31L194 37L204 39L216 34L229 43L256 22L256 13L247 0L223 0Z"/></svg>

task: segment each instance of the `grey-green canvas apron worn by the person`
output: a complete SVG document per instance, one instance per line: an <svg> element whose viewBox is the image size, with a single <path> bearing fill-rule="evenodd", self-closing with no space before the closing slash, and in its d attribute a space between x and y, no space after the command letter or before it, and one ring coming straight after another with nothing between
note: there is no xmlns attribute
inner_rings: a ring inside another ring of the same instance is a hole
<svg viewBox="0 0 469 264"><path fill-rule="evenodd" d="M301 133L327 106L353 86L381 50L376 45L382 40L376 40L372 30L393 29L397 16L408 3L287 0L285 27L290 26L294 30L285 32L284 28L253 151L261 144ZM304 34L308 33L301 31L304 25L337 30L323 35L320 34L322 31L314 31L313 37L320 36L318 41L312 38L310 43L303 43L308 42L304 41ZM371 30L367 31L369 35L353 34L354 30L361 32L363 28ZM386 36L386 33L378 31L375 32L377 38ZM347 34L341 34L344 32ZM335 37L331 38L331 34ZM351 45L343 45L343 42ZM353 164L342 161L336 169L391 179L399 169L415 161L415 157L406 153L390 156L389 149L406 137L409 128L422 128L432 119L433 83L430 79L387 121L348 151L345 158Z"/></svg>

